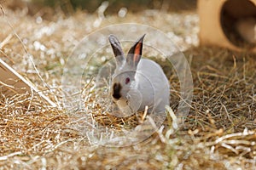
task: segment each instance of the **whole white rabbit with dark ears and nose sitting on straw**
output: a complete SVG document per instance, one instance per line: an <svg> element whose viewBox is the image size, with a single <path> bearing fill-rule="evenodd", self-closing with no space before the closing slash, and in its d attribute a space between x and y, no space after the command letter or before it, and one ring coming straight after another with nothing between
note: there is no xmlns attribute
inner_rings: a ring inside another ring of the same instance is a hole
<svg viewBox="0 0 256 170"><path fill-rule="evenodd" d="M146 105L149 113L164 112L170 105L170 85L164 71L153 60L141 59L144 36L126 57L117 37L108 37L116 61L110 91L113 102L126 116L143 111Z"/></svg>

